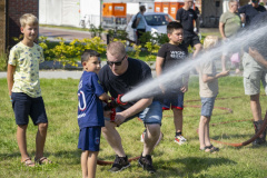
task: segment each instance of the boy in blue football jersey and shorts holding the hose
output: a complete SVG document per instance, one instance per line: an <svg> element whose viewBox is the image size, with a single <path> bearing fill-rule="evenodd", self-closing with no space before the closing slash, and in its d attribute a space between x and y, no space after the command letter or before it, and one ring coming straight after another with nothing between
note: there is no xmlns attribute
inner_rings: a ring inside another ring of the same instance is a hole
<svg viewBox="0 0 267 178"><path fill-rule="evenodd" d="M81 152L82 177L96 177L101 127L105 126L101 100L109 96L99 85L100 55L86 50L81 56L83 73L78 87L78 125L80 128L78 148Z"/></svg>

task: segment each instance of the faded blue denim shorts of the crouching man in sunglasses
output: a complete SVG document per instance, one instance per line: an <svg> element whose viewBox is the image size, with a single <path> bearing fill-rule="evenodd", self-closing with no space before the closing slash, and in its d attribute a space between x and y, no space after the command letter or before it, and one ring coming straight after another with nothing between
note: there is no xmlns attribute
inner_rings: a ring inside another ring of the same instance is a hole
<svg viewBox="0 0 267 178"><path fill-rule="evenodd" d="M121 112L123 111L122 108L117 107L116 112ZM135 117L138 117L142 120L144 125L154 125L158 123L161 125L161 119L162 119L162 106L159 101L152 101L150 106L148 106L146 109L144 109L141 112L127 118L123 122L127 122ZM105 118L105 120L110 120L110 118Z"/></svg>

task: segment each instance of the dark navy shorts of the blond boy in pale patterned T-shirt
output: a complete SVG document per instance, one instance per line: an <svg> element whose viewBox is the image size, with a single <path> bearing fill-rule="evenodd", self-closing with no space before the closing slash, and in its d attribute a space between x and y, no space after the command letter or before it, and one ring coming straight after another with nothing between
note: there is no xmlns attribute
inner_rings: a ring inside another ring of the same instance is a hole
<svg viewBox="0 0 267 178"><path fill-rule="evenodd" d="M17 125L28 125L29 116L33 125L48 122L42 97L31 98L23 92L12 92L11 98Z"/></svg>

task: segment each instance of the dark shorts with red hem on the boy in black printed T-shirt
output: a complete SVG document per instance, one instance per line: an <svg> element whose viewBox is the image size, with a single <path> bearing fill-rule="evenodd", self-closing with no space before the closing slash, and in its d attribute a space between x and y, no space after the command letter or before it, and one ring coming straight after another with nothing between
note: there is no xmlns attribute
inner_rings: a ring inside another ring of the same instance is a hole
<svg viewBox="0 0 267 178"><path fill-rule="evenodd" d="M170 107L171 109L184 109L184 92L177 92L177 93L171 93L171 95L164 95L162 98L162 109L164 110L169 110Z"/></svg>

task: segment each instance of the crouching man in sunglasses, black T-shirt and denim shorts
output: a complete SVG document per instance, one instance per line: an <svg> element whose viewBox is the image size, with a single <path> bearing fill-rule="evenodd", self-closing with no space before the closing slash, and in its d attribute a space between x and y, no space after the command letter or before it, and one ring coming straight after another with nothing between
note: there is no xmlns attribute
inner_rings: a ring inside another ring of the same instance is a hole
<svg viewBox="0 0 267 178"><path fill-rule="evenodd" d="M107 65L99 71L99 80L106 92L117 98L118 95L127 93L151 78L149 66L141 60L128 58L125 46L121 42L108 44ZM113 122L110 121L110 118L105 118L102 134L116 152L116 159L110 169L111 172L120 171L130 166L116 127L135 117L139 117L147 129L144 150L138 164L144 170L150 174L156 172L150 154L160 135L162 110L160 102L155 101L152 97L145 97L117 107Z"/></svg>

